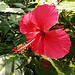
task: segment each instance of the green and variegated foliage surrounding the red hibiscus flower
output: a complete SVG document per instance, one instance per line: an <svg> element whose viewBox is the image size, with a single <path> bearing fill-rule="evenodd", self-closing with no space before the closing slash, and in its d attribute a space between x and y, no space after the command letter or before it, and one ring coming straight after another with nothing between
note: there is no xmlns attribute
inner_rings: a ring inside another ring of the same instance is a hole
<svg viewBox="0 0 75 75"><path fill-rule="evenodd" d="M40 3L35 0L0 0L0 71L8 65L9 75L75 75L75 1L65 0L56 8L59 21L56 25L64 27L71 39L71 49L64 58L53 60L39 56L30 48L23 54L12 55L12 49L27 43L25 35L19 31L19 20L28 11L33 11ZM51 0L46 0L51 3ZM58 0L59 2L60 0ZM52 29L57 29L54 26ZM17 73L17 74L16 74ZM8 71L5 75L8 75Z"/></svg>

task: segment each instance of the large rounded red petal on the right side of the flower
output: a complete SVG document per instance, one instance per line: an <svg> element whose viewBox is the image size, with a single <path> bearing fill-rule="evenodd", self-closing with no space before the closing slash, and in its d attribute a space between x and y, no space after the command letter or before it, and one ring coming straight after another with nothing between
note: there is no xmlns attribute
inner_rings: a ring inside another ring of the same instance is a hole
<svg viewBox="0 0 75 75"><path fill-rule="evenodd" d="M52 59L64 57L70 49L71 41L66 32L61 29L46 33L44 40L44 53Z"/></svg>

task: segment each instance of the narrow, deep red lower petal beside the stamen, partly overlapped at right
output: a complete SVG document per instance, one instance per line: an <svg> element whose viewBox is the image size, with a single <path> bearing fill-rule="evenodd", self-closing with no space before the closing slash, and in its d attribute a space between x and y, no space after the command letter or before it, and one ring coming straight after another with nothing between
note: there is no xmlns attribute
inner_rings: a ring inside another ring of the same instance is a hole
<svg viewBox="0 0 75 75"><path fill-rule="evenodd" d="M38 33L35 41L31 43L30 46L33 52L39 55L44 55L44 35Z"/></svg>

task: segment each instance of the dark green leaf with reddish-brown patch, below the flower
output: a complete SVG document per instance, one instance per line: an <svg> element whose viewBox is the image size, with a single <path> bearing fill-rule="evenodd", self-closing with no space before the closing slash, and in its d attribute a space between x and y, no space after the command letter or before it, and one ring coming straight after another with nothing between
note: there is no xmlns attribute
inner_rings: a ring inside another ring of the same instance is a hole
<svg viewBox="0 0 75 75"><path fill-rule="evenodd" d="M41 61L35 59L35 71L37 75L58 75L52 64L43 58Z"/></svg>

